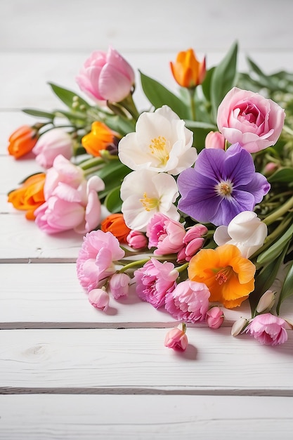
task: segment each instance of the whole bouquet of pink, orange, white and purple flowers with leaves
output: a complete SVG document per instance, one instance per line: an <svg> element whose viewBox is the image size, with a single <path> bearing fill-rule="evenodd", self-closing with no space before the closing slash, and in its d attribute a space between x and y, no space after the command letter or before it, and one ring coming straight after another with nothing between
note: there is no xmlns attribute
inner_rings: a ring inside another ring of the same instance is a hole
<svg viewBox="0 0 293 440"><path fill-rule="evenodd" d="M41 172L8 201L45 233L84 235L89 302L106 311L132 287L178 323L174 349L187 324L219 328L245 301L251 318L232 335L282 344L291 325L280 311L293 293L293 75L247 64L237 72L237 42L209 70L182 51L170 62L178 94L139 72L150 105L138 110L131 65L95 51L77 75L87 98L50 84L63 108L23 109L40 122L9 138L8 152L34 155Z"/></svg>

